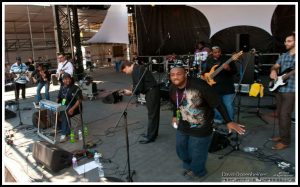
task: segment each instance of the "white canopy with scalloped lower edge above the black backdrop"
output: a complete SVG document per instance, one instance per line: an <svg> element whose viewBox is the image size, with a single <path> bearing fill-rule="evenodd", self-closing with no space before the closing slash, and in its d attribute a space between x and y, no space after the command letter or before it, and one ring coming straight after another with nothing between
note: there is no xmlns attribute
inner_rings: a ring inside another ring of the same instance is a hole
<svg viewBox="0 0 300 187"><path fill-rule="evenodd" d="M210 38L217 32L233 26L254 26L270 35L271 20L277 5L193 5L208 19Z"/></svg>

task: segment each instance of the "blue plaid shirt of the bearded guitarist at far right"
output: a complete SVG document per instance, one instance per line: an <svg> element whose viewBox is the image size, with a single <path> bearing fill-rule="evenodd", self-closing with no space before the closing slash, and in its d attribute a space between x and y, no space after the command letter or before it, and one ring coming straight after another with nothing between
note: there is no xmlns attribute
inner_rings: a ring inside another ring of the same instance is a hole
<svg viewBox="0 0 300 187"><path fill-rule="evenodd" d="M287 68L295 68L295 55L290 55L288 52L283 53L276 62L280 65L280 73L282 73ZM287 84L279 88L279 92L295 92L295 74L291 75L287 79Z"/></svg>

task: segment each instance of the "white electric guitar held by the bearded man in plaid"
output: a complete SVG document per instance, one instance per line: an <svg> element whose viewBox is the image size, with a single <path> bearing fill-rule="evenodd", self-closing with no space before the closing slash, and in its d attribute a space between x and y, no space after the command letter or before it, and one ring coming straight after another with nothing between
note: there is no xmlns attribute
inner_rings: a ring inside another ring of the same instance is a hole
<svg viewBox="0 0 300 187"><path fill-rule="evenodd" d="M287 68L285 69L280 76L278 76L275 80L272 80L269 83L269 91L273 92L277 90L280 86L283 86L287 83L287 79L290 78L290 76L295 74L295 69L294 68Z"/></svg>

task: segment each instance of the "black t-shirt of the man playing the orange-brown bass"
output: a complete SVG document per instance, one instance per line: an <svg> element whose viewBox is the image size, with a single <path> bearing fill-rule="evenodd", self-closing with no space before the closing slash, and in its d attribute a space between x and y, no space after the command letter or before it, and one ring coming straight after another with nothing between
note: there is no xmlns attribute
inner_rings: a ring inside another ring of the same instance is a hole
<svg viewBox="0 0 300 187"><path fill-rule="evenodd" d="M218 60L214 59L213 57L209 57L206 60L206 68L204 72L209 72L214 65L219 65L218 67L220 67L220 65L226 62L228 59L229 58L223 55ZM234 61L230 62L229 66L229 71L223 69L214 77L216 84L213 85L213 88L215 88L217 92L221 95L232 94L235 92L233 78L234 75L237 73L237 68Z"/></svg>

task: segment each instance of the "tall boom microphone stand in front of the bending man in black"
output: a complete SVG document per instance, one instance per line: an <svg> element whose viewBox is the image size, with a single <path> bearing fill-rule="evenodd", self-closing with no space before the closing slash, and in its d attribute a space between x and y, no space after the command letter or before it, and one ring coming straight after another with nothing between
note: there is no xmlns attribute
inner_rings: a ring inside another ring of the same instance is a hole
<svg viewBox="0 0 300 187"><path fill-rule="evenodd" d="M151 65L151 63L148 63L146 66L149 66ZM122 117L124 116L124 123L125 123L125 138L126 138L126 152L127 152L127 165L128 165L128 175L127 175L127 180L128 182L133 182L132 180L132 176L135 174L135 170L132 171L132 174L131 174L131 171L130 171L130 157L129 157L129 141L128 141L128 124L127 124L127 108L129 106L129 103L131 102L132 98L135 96L135 92L136 90L138 89L141 81L143 80L146 72L148 70L148 67L145 68L142 76L140 77L138 83L136 84L134 90L132 91L132 95L129 99L129 101L127 102L126 106L125 106L125 109L123 110L118 122L116 123L115 127L116 128L118 126L118 124L120 123L120 120L122 119Z"/></svg>

